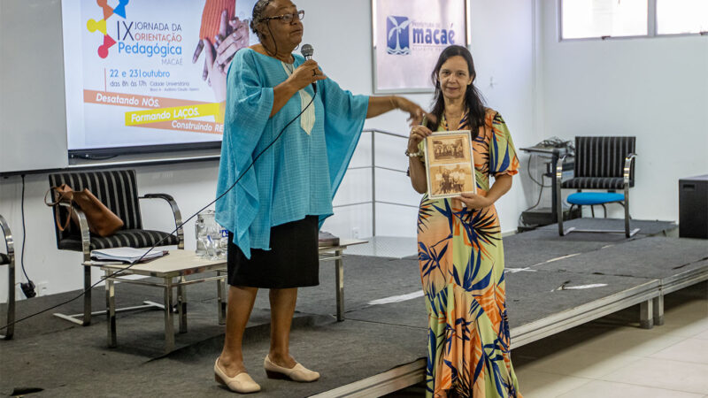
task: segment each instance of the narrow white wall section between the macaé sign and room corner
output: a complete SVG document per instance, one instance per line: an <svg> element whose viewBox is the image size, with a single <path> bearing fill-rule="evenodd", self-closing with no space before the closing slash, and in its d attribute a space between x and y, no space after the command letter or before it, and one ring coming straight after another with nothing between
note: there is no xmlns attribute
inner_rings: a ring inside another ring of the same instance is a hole
<svg viewBox="0 0 708 398"><path fill-rule="evenodd" d="M539 141L535 134L534 8L524 0L472 0L472 55L475 85L489 107L499 111L512 134L521 165L527 155L519 150ZM522 167L512 190L496 202L502 232L516 231L521 211L537 195Z"/></svg>

